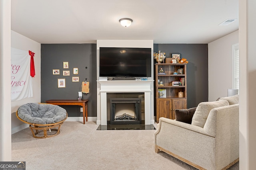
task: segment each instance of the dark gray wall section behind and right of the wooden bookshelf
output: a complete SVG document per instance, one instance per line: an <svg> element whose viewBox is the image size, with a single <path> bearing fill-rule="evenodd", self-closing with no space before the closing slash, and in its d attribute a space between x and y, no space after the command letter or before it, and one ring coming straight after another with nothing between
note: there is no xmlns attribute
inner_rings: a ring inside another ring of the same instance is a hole
<svg viewBox="0 0 256 170"><path fill-rule="evenodd" d="M187 59L188 108L208 101L208 44L154 44L154 52L165 52L166 57L180 53Z"/></svg>

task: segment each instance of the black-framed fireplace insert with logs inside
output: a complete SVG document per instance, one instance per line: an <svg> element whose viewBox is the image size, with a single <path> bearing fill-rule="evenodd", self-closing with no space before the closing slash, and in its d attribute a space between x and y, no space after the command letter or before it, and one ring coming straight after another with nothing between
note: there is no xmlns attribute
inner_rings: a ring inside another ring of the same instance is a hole
<svg viewBox="0 0 256 170"><path fill-rule="evenodd" d="M141 124L141 98L110 98L110 125Z"/></svg>

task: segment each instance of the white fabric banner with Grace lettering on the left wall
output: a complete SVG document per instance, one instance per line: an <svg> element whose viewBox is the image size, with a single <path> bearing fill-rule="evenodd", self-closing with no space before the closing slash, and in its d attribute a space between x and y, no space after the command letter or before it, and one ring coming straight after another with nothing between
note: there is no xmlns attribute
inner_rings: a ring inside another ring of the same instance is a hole
<svg viewBox="0 0 256 170"><path fill-rule="evenodd" d="M11 48L11 100L33 97L28 51Z"/></svg>

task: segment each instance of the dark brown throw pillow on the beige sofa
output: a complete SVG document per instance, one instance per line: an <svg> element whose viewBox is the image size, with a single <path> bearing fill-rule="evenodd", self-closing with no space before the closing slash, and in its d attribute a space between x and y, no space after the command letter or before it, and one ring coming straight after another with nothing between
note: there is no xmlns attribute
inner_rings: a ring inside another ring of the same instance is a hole
<svg viewBox="0 0 256 170"><path fill-rule="evenodd" d="M196 107L190 109L175 109L176 121L191 124Z"/></svg>

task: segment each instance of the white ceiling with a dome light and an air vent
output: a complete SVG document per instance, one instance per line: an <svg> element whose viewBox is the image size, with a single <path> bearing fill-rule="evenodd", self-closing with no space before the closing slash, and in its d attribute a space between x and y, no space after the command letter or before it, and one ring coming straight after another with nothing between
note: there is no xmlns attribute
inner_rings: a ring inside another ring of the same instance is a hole
<svg viewBox="0 0 256 170"><path fill-rule="evenodd" d="M120 18L131 18L122 27ZM238 30L238 0L12 0L11 29L38 43L210 43Z"/></svg>

